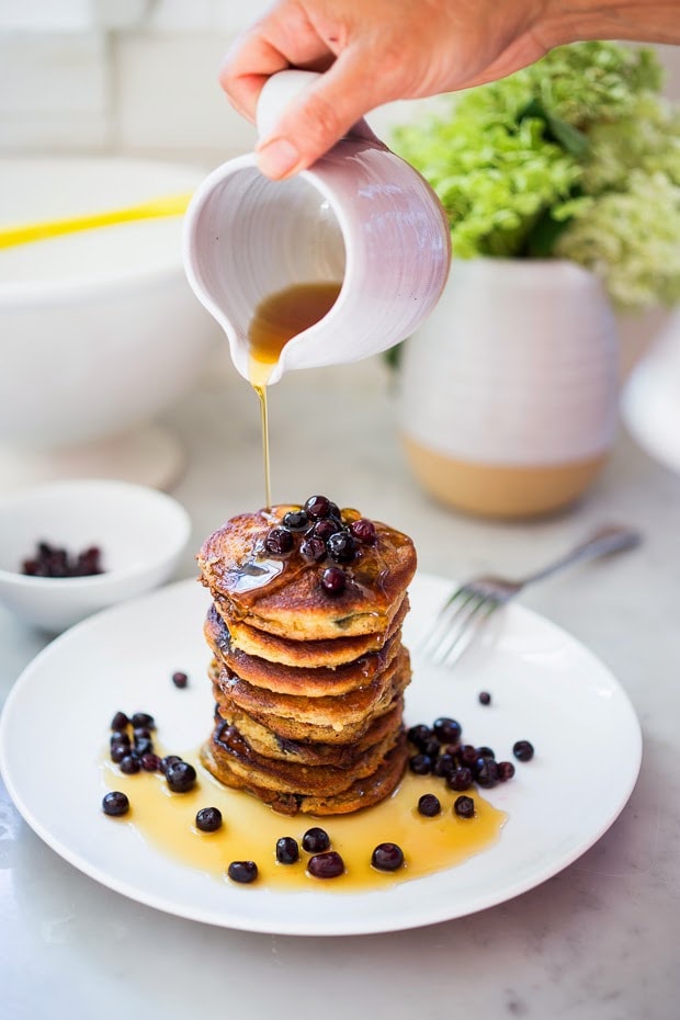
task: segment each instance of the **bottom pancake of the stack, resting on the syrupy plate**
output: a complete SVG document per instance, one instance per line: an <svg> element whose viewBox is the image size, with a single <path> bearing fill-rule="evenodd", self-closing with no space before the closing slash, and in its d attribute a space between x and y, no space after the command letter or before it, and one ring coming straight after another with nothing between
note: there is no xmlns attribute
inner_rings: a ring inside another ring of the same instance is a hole
<svg viewBox="0 0 680 1020"><path fill-rule="evenodd" d="M229 761L216 761L212 740L201 751L203 764L219 782L248 791L283 815L295 815L298 811L314 815L342 815L377 804L396 790L406 768L407 756L406 736L401 734L396 746L371 775L355 780L342 793L325 796L283 793L243 779L234 772Z"/></svg>

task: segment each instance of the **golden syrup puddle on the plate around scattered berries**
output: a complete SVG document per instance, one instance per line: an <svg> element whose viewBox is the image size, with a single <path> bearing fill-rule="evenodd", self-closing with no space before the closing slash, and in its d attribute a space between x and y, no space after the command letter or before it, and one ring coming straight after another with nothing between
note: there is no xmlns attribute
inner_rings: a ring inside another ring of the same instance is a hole
<svg viewBox="0 0 680 1020"><path fill-rule="evenodd" d="M123 774L113 762L103 763L107 790L126 793L131 811L112 825L127 825L148 845L189 868L231 883L226 872L231 861L254 861L259 877L254 886L277 891L319 888L333 892L366 892L387 888L397 883L420 879L462 863L473 854L494 846L507 815L467 791L475 801L474 818L458 818L453 802L460 794L449 790L442 779L407 773L397 791L365 811L350 815L294 817L279 815L250 794L230 790L217 782L197 763L197 755L186 755L196 764L199 779L188 793L172 793L161 773ZM434 793L442 811L433 818L418 813L418 798ZM195 827L196 812L218 807L223 816L216 832ZM331 849L345 865L336 879L315 879L306 871L309 854L302 849L304 832L313 826L326 829ZM276 840L292 836L301 845L295 864L280 864L275 858ZM371 854L382 842L395 842L404 851L405 864L397 872L379 872L371 865Z"/></svg>

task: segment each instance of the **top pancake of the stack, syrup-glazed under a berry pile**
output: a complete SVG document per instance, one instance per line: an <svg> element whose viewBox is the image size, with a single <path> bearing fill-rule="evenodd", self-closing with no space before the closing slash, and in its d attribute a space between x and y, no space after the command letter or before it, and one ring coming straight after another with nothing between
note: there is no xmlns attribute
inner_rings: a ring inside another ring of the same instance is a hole
<svg viewBox="0 0 680 1020"><path fill-rule="evenodd" d="M349 563L333 563L329 556L316 563L304 558L299 553L304 531L292 532L290 553L268 552L265 541L272 529L281 526L286 512L301 509L280 506L241 513L205 541L197 556L201 580L220 613L288 641L387 631L416 571L411 540L374 521L374 541L355 541ZM343 510L337 525L347 531L359 518L355 510ZM345 578L345 589L338 594L328 593L321 585L329 566L338 567Z"/></svg>

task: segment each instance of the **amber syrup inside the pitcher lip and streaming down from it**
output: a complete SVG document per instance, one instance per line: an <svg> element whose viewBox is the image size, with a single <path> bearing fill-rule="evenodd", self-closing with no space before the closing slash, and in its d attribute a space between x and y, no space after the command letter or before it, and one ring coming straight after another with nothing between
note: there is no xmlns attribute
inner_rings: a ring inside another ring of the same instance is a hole
<svg viewBox="0 0 680 1020"><path fill-rule="evenodd" d="M272 506L267 386L288 340L320 321L335 305L340 283L296 283L270 294L257 306L248 330L250 385L260 401L265 507Z"/></svg>

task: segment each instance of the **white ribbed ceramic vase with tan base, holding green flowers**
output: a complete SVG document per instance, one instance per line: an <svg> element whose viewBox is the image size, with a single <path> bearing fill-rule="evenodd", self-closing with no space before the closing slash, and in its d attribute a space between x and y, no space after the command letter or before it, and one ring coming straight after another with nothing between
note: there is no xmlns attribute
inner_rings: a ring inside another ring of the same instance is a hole
<svg viewBox="0 0 680 1020"><path fill-rule="evenodd" d="M612 445L617 400L613 313L599 281L567 261L454 262L404 352L413 474L472 513L531 517L577 499Z"/></svg>

